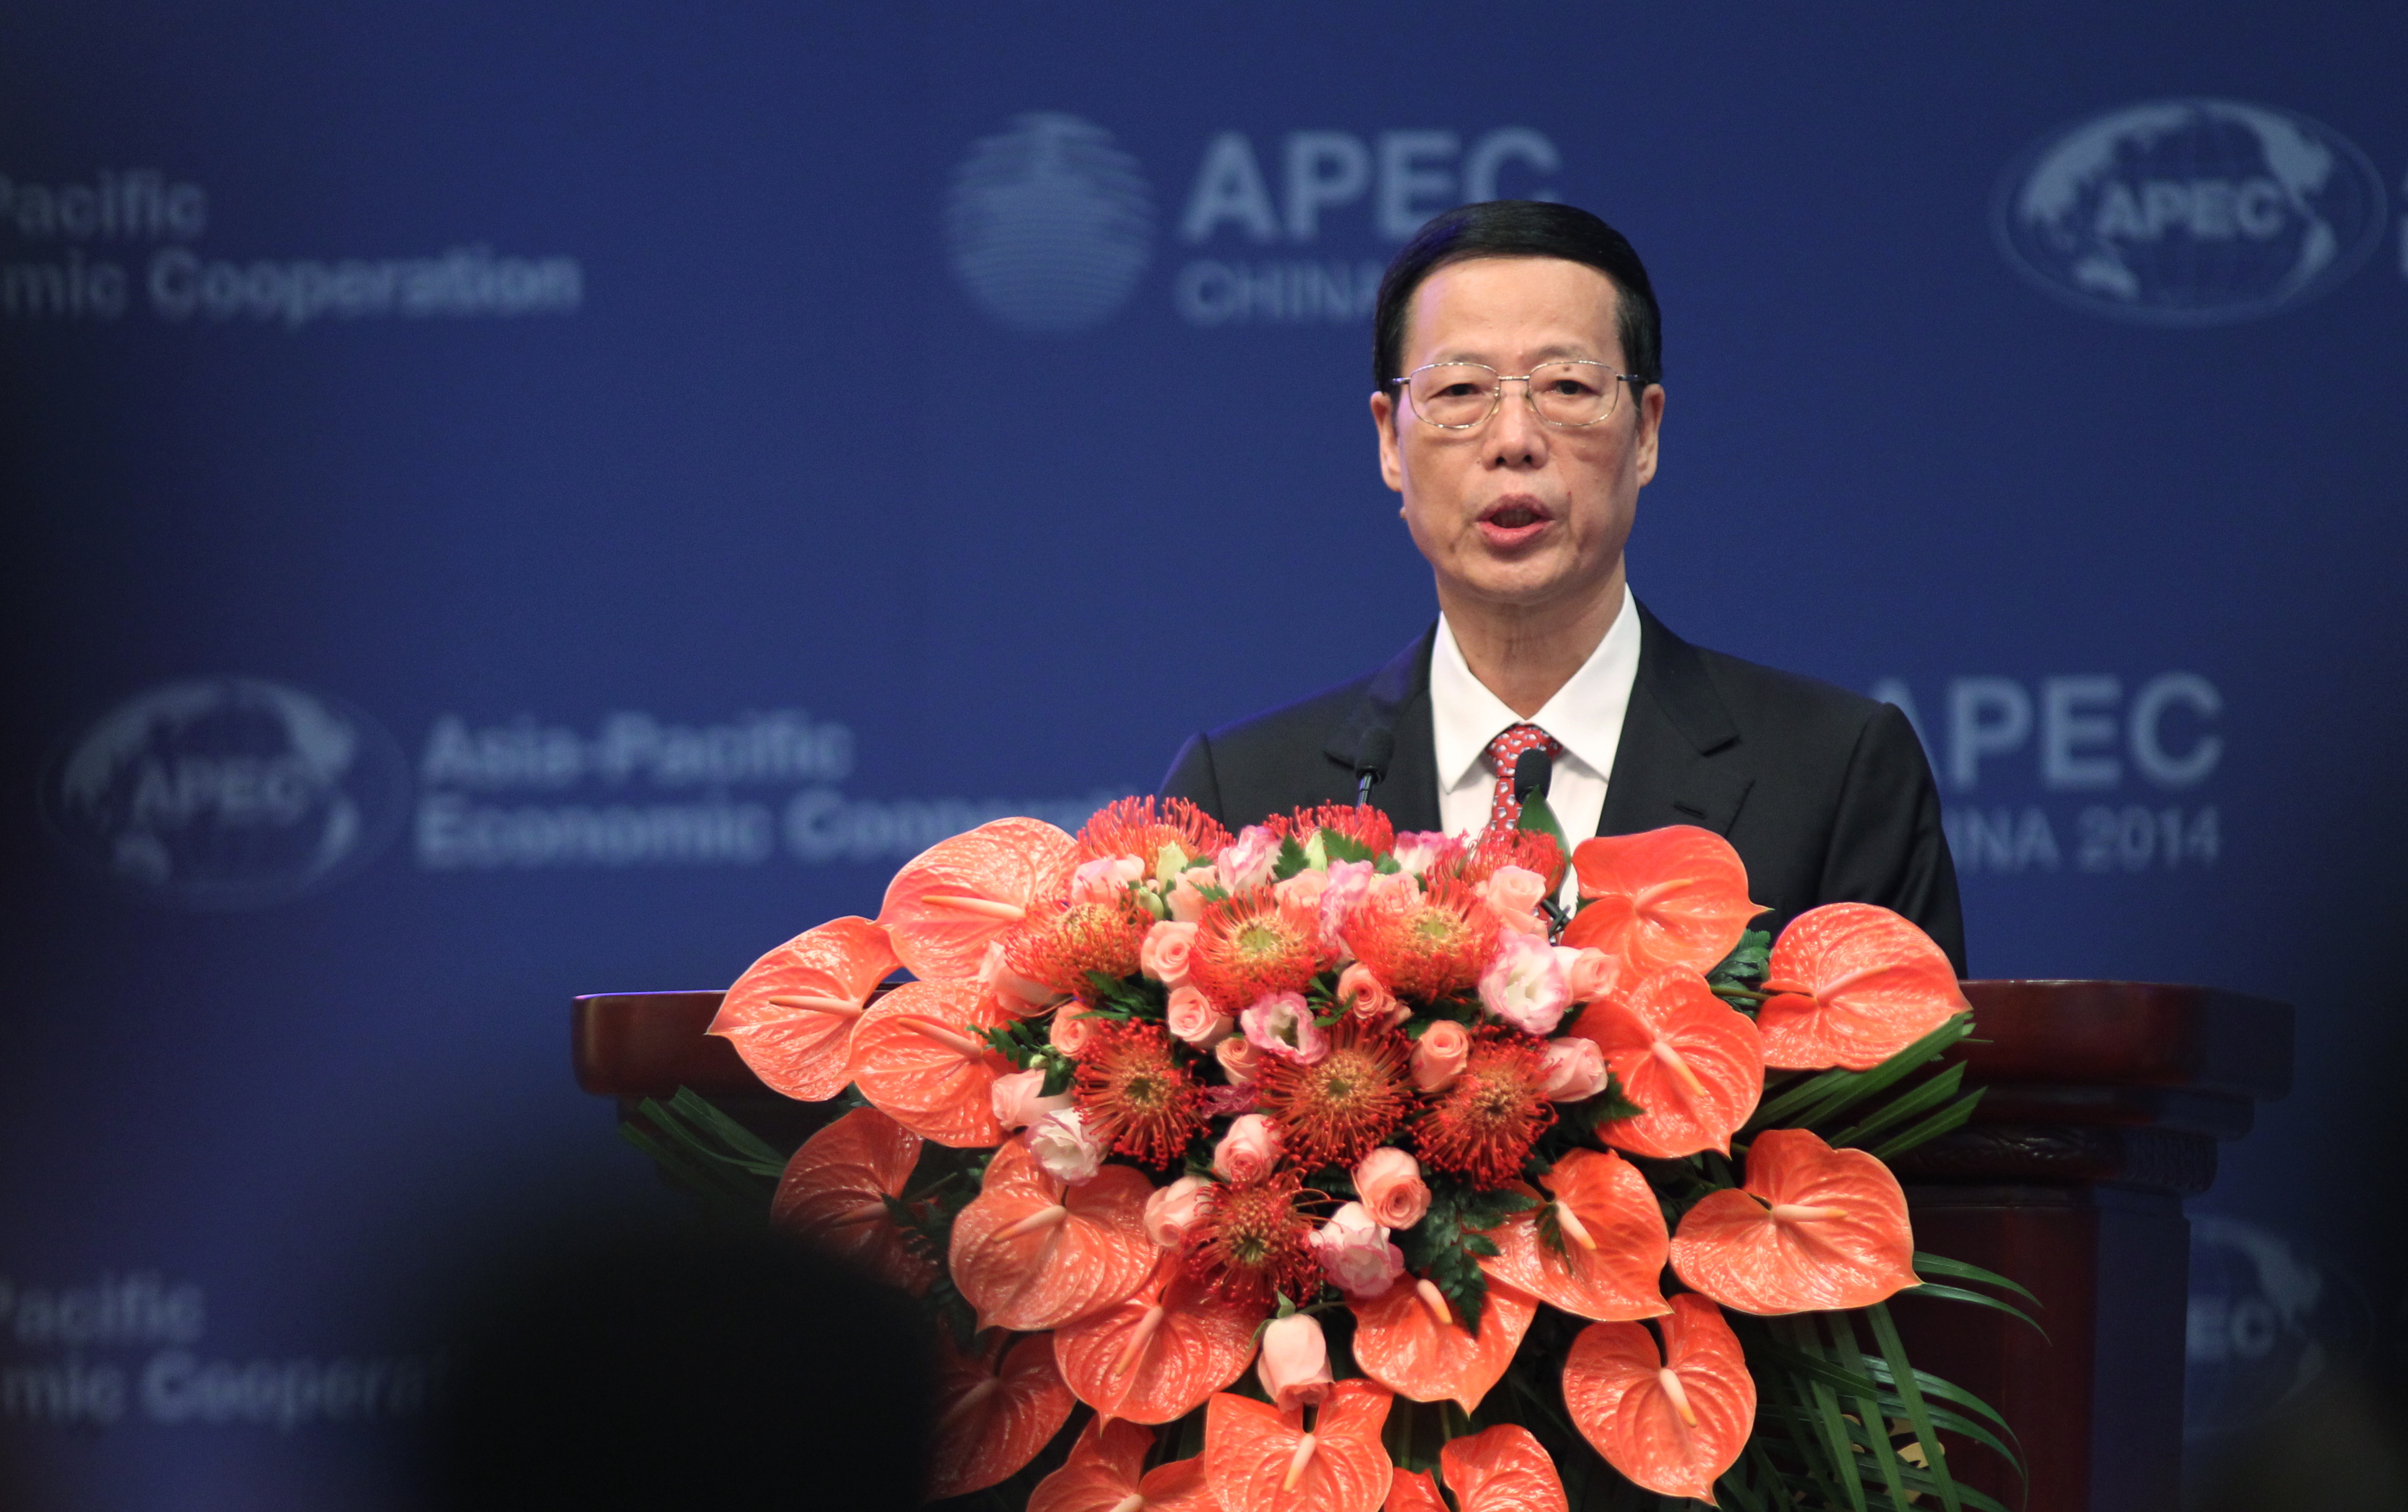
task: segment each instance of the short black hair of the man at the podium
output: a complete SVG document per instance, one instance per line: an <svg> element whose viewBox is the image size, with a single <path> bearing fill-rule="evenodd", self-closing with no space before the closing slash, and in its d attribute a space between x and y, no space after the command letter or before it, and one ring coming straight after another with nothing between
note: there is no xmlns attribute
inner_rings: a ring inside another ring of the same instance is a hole
<svg viewBox="0 0 2408 1512"><path fill-rule="evenodd" d="M1483 200L1430 217L1387 265L1370 323L1373 392L1387 392L1399 378L1404 313L1413 303L1413 289L1440 267L1471 258L1563 258L1606 274L1616 291L1613 335L1623 342L1623 364L1640 380L1635 392L1664 383L1664 315L1630 238L1572 205Z"/></svg>

